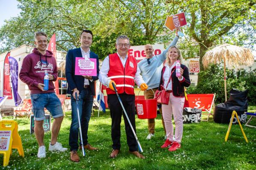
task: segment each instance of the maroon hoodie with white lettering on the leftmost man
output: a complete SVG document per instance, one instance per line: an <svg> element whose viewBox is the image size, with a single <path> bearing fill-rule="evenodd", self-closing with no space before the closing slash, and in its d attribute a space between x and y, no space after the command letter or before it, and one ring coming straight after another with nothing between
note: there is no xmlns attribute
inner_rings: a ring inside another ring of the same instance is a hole
<svg viewBox="0 0 256 170"><path fill-rule="evenodd" d="M28 54L22 62L19 77L22 82L28 85L30 94L52 93L54 92L53 81L57 80L57 64L51 51L46 50L46 54L39 53L37 48L33 49L33 53ZM44 84L45 70L48 74L54 76L53 80L49 80L48 91L41 91L37 86L39 83Z"/></svg>

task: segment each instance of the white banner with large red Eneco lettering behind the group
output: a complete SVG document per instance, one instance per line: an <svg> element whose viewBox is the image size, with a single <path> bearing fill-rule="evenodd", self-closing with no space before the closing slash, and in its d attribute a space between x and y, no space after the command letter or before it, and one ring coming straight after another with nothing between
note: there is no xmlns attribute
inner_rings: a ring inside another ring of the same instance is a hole
<svg viewBox="0 0 256 170"><path fill-rule="evenodd" d="M146 57L144 47L145 45L131 46L130 50L128 51L128 55L131 57L135 57L136 60L143 60ZM161 54L163 50L165 50L163 44L154 44L152 45L152 47L154 49L154 56Z"/></svg>

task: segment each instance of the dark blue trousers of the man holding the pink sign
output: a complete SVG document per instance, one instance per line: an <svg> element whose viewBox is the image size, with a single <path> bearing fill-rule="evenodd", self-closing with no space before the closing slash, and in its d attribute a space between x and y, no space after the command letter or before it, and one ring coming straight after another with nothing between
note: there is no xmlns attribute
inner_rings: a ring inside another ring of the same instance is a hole
<svg viewBox="0 0 256 170"><path fill-rule="evenodd" d="M69 132L69 146L70 151L78 149L78 134L79 134L79 123L77 114L76 100L71 95L71 107L72 107L72 122ZM78 97L78 110L81 121L81 131L84 146L88 144L88 126L90 121L90 115L93 107L93 94L90 88L84 88ZM81 142L80 142L81 143Z"/></svg>

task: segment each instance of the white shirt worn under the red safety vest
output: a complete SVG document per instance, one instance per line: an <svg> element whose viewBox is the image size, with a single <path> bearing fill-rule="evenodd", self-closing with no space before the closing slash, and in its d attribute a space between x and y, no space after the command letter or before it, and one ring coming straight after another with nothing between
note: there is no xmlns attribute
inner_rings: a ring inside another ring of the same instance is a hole
<svg viewBox="0 0 256 170"><path fill-rule="evenodd" d="M119 56L119 59L120 61L122 62L123 64L123 67L125 67L125 64L126 64L126 61L128 59L128 56L126 55L125 58L123 59L118 53L117 55ZM107 56L103 63L102 63L102 67L101 69L99 70L99 81L105 85L105 86L108 86L109 85L109 82L111 81L111 79L108 79L108 71L109 71L109 56ZM139 70L139 67L137 65L137 71L135 73L135 76L134 76L134 80L136 82L137 85L141 85L142 83L145 83L144 80L142 79L142 76L141 76L141 71Z"/></svg>

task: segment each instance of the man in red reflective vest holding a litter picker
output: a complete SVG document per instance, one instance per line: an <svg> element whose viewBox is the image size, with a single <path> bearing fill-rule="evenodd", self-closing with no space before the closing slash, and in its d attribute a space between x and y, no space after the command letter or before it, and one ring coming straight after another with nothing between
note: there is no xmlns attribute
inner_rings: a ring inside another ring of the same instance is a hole
<svg viewBox="0 0 256 170"><path fill-rule="evenodd" d="M116 40L115 47L117 49L117 53L107 56L102 63L101 70L99 71L99 81L103 85L108 86L106 91L108 94L108 107L110 108L110 116L112 120L111 138L113 141L113 150L110 154L111 158L116 157L120 152L120 123L123 112L112 83L114 83L117 88L117 93L119 94L135 132L134 81L140 86L142 91L148 88L148 85L140 75L136 59L127 55L128 50L130 49L129 38L126 35L120 35ZM144 159L145 157L138 152L136 138L134 137L132 129L130 128L125 116L123 116L123 120L129 152L136 155L138 158Z"/></svg>

